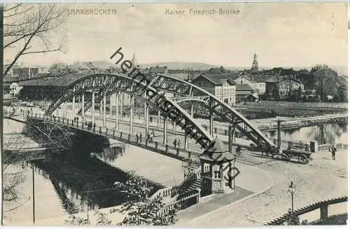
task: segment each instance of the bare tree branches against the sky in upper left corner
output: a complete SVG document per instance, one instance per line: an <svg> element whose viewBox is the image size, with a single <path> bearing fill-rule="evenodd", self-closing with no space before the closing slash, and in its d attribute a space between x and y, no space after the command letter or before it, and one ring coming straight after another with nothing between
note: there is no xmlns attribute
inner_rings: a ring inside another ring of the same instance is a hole
<svg viewBox="0 0 350 229"><path fill-rule="evenodd" d="M10 55L4 75L24 55L62 51L66 45L63 35L59 41L50 34L59 34L66 20L65 8L57 4L6 4L3 8L3 52Z"/></svg>

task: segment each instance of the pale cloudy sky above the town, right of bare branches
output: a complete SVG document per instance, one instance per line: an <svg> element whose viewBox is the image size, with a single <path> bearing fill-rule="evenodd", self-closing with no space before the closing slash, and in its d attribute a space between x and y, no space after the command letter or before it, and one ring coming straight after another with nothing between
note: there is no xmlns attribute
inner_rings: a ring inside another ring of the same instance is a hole
<svg viewBox="0 0 350 229"><path fill-rule="evenodd" d="M63 5L62 5L63 6ZM109 60L118 48L140 64L202 62L249 67L347 65L345 3L68 4L66 22L52 39L66 36L64 53L27 55L30 65ZM235 9L235 15L194 15L190 9ZM111 15L73 15L73 10L111 9ZM169 15L167 9L182 10ZM237 14L239 10L239 15ZM5 50L4 60L13 52Z"/></svg>

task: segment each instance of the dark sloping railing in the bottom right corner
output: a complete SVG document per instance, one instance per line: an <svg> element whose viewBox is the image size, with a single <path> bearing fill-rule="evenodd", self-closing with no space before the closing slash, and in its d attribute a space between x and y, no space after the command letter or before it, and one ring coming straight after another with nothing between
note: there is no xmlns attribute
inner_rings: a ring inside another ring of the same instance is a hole
<svg viewBox="0 0 350 229"><path fill-rule="evenodd" d="M306 207L302 207L301 209L297 209L293 211L295 216L301 216L302 214L306 214L310 211L314 211L316 209L321 210L320 220L325 220L328 218L328 207L332 204L339 204L342 202L347 202L348 197L338 197L335 199L324 200L321 202L316 202L314 204L307 205ZM283 225L286 221L290 219L290 214L284 214L283 216L274 219L273 221L269 221L269 223L265 223L265 225Z"/></svg>

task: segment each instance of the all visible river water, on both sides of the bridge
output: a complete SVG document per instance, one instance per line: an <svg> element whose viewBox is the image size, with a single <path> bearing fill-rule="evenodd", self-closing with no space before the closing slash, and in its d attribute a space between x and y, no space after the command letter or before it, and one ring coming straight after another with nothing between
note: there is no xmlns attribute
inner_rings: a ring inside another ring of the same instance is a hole
<svg viewBox="0 0 350 229"><path fill-rule="evenodd" d="M269 132L270 138L276 132ZM316 140L319 144L347 143L347 123L314 125L295 130L282 130L281 139L292 141ZM36 218L67 218L68 214L85 212L87 208L113 207L125 202L125 197L113 189L116 181L125 182L127 173L113 167L113 161L130 153L132 148L115 146L111 148L76 148L53 155L51 158L34 162L36 177ZM97 157L98 156L98 157ZM100 160L99 158L104 158ZM151 159L150 159L151 160ZM109 162L107 165L106 162ZM30 164L23 165L27 174L24 196L31 196ZM162 188L150 181L154 191ZM24 197L25 198L25 197ZM45 204L46 203L46 204ZM45 205L41 207L41 204ZM21 221L30 223L30 201L16 210L16 214L5 214L13 224ZM24 216L26 215L26 216ZM26 218L27 217L27 218Z"/></svg>

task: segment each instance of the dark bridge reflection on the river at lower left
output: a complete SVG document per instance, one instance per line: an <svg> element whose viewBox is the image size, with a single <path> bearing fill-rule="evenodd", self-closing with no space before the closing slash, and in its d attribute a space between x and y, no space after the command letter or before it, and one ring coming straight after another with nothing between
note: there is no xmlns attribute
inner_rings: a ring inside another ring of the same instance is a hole
<svg viewBox="0 0 350 229"><path fill-rule="evenodd" d="M113 161L123 156L123 147L104 148L91 152ZM49 160L33 162L45 179L50 180L59 197L62 208L69 214L89 209L113 207L125 202L123 193L113 188L116 181L124 183L128 174L90 153L66 151L52 155ZM153 193L162 186L148 181L155 187Z"/></svg>

